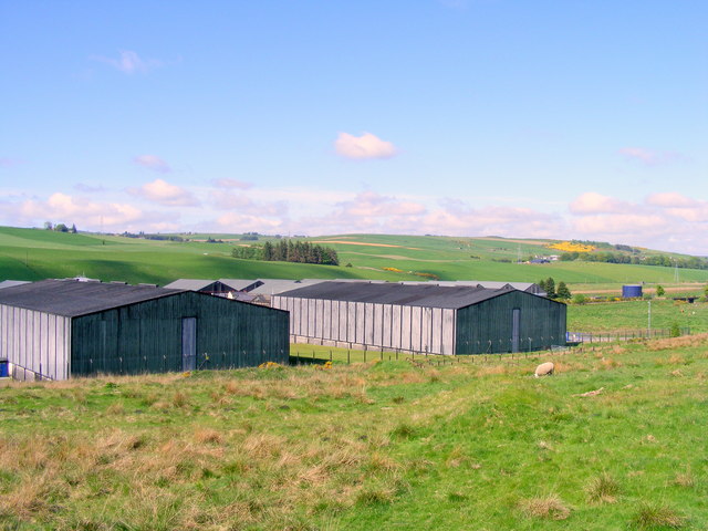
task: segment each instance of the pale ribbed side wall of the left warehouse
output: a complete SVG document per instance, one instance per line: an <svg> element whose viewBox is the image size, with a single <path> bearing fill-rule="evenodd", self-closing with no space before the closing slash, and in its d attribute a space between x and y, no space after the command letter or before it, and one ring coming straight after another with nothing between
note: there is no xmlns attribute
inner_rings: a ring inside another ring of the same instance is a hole
<svg viewBox="0 0 708 531"><path fill-rule="evenodd" d="M25 378L24 369L64 379L70 345L71 319L0 304L0 357L13 365L18 379Z"/></svg>

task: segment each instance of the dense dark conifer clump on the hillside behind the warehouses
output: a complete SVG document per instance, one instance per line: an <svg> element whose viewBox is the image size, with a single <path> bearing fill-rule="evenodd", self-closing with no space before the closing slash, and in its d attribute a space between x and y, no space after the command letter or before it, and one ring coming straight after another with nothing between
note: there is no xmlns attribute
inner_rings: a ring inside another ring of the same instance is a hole
<svg viewBox="0 0 708 531"><path fill-rule="evenodd" d="M246 260L263 260L267 262L317 263L339 266L336 251L330 247L308 241L281 240L273 244L267 241L262 246L236 247L231 251L233 258Z"/></svg>

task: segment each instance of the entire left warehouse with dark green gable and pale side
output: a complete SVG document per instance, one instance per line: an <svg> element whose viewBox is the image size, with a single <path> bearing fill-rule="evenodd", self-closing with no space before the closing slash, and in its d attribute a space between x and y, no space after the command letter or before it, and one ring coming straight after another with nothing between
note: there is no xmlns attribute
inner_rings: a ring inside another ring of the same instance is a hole
<svg viewBox="0 0 708 531"><path fill-rule="evenodd" d="M0 360L17 379L288 363L288 313L204 293L44 280L0 290Z"/></svg>

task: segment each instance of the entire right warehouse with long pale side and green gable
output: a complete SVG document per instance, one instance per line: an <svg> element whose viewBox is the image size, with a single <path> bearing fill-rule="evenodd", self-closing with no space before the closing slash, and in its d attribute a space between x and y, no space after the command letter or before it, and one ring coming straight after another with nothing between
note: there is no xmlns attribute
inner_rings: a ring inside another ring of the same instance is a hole
<svg viewBox="0 0 708 531"><path fill-rule="evenodd" d="M433 354L482 354L565 344L565 304L466 285L321 282L273 295L292 342Z"/></svg>

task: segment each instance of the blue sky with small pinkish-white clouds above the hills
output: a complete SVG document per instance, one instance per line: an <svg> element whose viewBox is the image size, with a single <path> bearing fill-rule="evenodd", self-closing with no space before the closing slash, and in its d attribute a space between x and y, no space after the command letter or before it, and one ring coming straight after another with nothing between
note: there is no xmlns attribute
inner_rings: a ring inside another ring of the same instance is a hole
<svg viewBox="0 0 708 531"><path fill-rule="evenodd" d="M705 1L0 0L0 223L708 254Z"/></svg>

